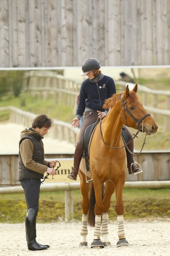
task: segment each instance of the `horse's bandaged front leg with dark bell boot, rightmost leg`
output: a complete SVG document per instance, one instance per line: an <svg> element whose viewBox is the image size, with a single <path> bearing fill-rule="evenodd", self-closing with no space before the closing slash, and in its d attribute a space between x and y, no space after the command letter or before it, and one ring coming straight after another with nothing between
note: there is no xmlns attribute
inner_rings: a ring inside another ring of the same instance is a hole
<svg viewBox="0 0 170 256"><path fill-rule="evenodd" d="M126 175L124 181L126 179ZM123 219L123 187L124 182L122 177L119 178L117 184L115 185L116 188L116 203L115 203L115 211L117 213L117 223L118 223L118 237L119 240L117 242L117 247L119 246L128 246L128 241L125 238L124 232L124 219Z"/></svg>

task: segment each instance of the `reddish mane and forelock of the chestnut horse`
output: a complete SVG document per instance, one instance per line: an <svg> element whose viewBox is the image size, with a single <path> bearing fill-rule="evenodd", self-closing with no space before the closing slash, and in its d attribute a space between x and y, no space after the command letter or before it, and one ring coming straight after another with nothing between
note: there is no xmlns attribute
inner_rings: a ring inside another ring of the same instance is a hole
<svg viewBox="0 0 170 256"><path fill-rule="evenodd" d="M113 94L110 98L105 100L105 103L103 104L103 108L112 108L116 104L117 100L121 98L121 95L123 93L116 93ZM129 91L128 96L126 97L126 100L128 100L129 104L136 104L138 100L138 95L134 91Z"/></svg>

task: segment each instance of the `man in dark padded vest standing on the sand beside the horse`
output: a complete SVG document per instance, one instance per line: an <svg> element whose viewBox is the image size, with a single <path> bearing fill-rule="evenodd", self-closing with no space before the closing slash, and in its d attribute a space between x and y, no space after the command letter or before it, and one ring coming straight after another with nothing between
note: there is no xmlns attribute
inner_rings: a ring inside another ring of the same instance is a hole
<svg viewBox="0 0 170 256"><path fill-rule="evenodd" d="M34 118L32 127L24 129L19 141L19 181L24 189L27 203L27 214L25 217L25 230L27 246L30 251L40 251L49 248L36 241L36 219L39 206L39 192L41 179L44 173L55 175L53 169L57 161L48 162L44 160L43 136L48 133L52 120L41 114Z"/></svg>

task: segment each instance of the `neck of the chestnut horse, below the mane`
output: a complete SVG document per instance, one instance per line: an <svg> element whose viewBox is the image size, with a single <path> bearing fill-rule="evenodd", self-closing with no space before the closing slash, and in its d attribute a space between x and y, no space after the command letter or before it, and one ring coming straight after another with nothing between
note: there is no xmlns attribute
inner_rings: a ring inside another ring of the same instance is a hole
<svg viewBox="0 0 170 256"><path fill-rule="evenodd" d="M107 117L103 120L102 134L106 144L112 144L112 147L118 147L121 140L123 123L120 118L121 109L109 109Z"/></svg>

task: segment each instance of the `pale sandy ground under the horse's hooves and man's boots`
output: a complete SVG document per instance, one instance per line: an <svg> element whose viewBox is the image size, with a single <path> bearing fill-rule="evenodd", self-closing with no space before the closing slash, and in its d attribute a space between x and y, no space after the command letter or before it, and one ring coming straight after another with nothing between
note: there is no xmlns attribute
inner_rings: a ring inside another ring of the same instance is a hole
<svg viewBox="0 0 170 256"><path fill-rule="evenodd" d="M117 222L109 224L111 246L91 249L94 229L88 227L88 247L79 247L81 223L37 224L37 241L51 247L28 251L25 225L0 223L0 256L168 256L170 255L170 219L165 221L126 221L124 228L129 246L116 247Z"/></svg>

